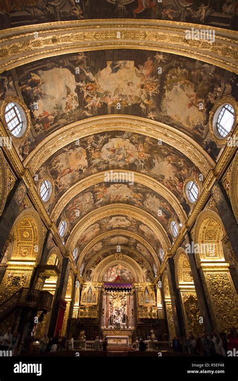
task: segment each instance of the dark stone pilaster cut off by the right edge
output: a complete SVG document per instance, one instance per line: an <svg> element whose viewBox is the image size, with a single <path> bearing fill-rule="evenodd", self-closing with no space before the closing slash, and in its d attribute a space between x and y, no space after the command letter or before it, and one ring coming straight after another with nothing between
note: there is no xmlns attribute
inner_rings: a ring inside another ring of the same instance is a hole
<svg viewBox="0 0 238 381"><path fill-rule="evenodd" d="M226 234L228 236L229 242L235 253L236 260L238 260L238 226L236 224L236 219L233 214L233 210L230 204L230 200L225 192L225 189L221 182L215 181L211 193L213 196L214 203L219 212L219 217L225 228Z"/></svg>

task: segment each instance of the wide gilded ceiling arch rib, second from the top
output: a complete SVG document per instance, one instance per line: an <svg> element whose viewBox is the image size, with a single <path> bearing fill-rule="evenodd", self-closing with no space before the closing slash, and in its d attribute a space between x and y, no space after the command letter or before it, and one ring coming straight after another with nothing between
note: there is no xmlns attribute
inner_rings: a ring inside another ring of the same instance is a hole
<svg viewBox="0 0 238 381"><path fill-rule="evenodd" d="M185 133L167 124L138 116L103 115L69 124L45 138L24 160L34 175L40 166L65 145L91 134L108 131L129 131L161 139L187 156L206 175L214 161L204 149Z"/></svg>

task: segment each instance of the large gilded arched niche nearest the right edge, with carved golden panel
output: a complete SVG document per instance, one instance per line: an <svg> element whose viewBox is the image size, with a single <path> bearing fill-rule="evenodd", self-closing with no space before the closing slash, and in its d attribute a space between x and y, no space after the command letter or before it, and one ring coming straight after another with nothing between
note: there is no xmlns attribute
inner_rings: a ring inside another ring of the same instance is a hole
<svg viewBox="0 0 238 381"><path fill-rule="evenodd" d="M223 254L224 236L219 216L209 209L202 211L195 225L195 242L207 248L212 244L214 250L195 255L213 325L218 331L228 331L237 322L236 291Z"/></svg>

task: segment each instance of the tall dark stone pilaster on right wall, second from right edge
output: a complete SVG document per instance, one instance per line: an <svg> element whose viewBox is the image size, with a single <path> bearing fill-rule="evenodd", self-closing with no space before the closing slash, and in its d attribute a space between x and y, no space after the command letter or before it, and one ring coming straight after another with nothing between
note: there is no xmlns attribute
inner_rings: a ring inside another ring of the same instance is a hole
<svg viewBox="0 0 238 381"><path fill-rule="evenodd" d="M187 232L187 237L188 237L190 246L192 247L191 245L192 237L190 232ZM209 307L207 303L207 297L205 294L203 282L201 279L201 274L197 268L194 253L188 254L188 260L189 260L189 264L190 264L190 268L192 272L192 278L193 278L193 283L194 283L194 287L195 287L195 291L197 295L199 310L200 310L201 316L203 317L203 326L205 331L211 332L214 329L214 327L212 324L212 319L211 319L211 315L210 315L210 311L209 311Z"/></svg>

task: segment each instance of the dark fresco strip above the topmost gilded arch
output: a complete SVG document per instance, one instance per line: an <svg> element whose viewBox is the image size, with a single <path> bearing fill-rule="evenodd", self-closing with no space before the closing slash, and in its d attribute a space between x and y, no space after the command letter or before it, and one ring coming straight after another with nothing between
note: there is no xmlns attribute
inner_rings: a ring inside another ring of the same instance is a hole
<svg viewBox="0 0 238 381"><path fill-rule="evenodd" d="M236 0L2 0L1 28L86 19L155 19L237 29Z"/></svg>

